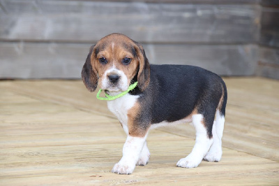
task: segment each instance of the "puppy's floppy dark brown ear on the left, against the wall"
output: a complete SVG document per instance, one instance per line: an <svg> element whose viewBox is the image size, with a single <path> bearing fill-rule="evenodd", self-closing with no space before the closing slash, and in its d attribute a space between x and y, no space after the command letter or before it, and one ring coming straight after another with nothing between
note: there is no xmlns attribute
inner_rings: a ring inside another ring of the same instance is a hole
<svg viewBox="0 0 279 186"><path fill-rule="evenodd" d="M94 46L95 45L91 46L91 48L89 50L89 54L87 55L86 61L82 68L82 80L83 80L85 87L90 92L95 91L97 88L97 85L98 85L97 72L92 68L92 65L91 65L91 55L92 55Z"/></svg>

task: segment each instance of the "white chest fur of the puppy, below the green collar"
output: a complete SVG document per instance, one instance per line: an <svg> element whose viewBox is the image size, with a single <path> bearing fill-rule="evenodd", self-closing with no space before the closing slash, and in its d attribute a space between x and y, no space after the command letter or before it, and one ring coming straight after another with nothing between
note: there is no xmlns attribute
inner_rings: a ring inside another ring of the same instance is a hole
<svg viewBox="0 0 279 186"><path fill-rule="evenodd" d="M107 101L107 107L110 109L114 115L119 119L121 124L126 125L128 124L128 110L135 105L139 96L133 96L130 94L126 94L121 96L118 99L113 101Z"/></svg>

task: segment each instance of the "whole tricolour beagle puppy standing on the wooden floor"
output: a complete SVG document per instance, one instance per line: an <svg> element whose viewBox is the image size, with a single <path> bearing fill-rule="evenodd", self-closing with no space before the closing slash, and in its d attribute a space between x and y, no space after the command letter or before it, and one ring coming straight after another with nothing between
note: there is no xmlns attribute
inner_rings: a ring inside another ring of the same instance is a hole
<svg viewBox="0 0 279 186"><path fill-rule="evenodd" d="M107 101L128 136L113 173L130 174L136 165L149 162L150 129L185 122L195 127L195 146L176 166L220 161L227 88L215 73L197 66L149 64L142 45L123 34L110 34L91 46L82 80L89 91L100 85L110 96L137 82L128 94Z"/></svg>

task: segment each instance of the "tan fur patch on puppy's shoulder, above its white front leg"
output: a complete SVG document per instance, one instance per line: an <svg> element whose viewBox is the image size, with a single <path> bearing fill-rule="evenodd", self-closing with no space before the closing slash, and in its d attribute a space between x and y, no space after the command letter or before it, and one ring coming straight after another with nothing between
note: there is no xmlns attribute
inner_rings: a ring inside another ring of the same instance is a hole
<svg viewBox="0 0 279 186"><path fill-rule="evenodd" d="M129 130L129 135L133 137L144 137L146 136L146 133L150 127L144 127L140 126L136 121L135 118L137 115L140 113L140 103L136 102L135 105L128 110L127 116L128 116L128 130Z"/></svg>

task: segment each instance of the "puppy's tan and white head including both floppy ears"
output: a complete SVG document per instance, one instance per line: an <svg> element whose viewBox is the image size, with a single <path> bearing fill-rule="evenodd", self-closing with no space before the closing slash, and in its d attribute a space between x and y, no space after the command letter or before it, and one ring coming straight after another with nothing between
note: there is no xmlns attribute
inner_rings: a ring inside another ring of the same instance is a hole
<svg viewBox="0 0 279 186"><path fill-rule="evenodd" d="M142 91L149 85L150 66L142 45L125 35L110 34L91 46L82 69L89 91L99 83L103 90L123 92L133 79Z"/></svg>

